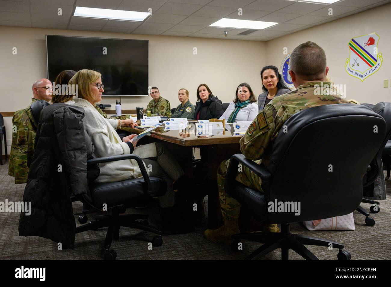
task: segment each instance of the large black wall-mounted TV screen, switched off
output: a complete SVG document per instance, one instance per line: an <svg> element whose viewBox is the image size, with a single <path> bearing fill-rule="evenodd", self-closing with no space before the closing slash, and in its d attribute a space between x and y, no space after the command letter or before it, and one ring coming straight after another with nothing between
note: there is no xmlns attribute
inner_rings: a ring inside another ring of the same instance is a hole
<svg viewBox="0 0 391 287"><path fill-rule="evenodd" d="M63 70L102 74L104 96L148 96L149 41L46 35L48 79Z"/></svg>

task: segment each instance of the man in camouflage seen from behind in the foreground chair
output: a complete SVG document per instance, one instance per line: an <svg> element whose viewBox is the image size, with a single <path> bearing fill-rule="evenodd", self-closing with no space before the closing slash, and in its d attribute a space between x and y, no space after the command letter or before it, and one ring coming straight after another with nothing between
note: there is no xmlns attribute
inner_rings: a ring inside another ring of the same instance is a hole
<svg viewBox="0 0 391 287"><path fill-rule="evenodd" d="M251 123L246 134L240 139L240 150L243 155L251 160L262 160L262 165L267 166L274 140L280 128L293 114L304 109L310 109L319 105L338 103L350 103L340 96L326 80L328 67L326 66L325 51L314 42L306 42L297 46L291 53L289 75L295 90L275 97L265 105L264 110ZM323 86L323 90L319 87ZM217 184L224 225L218 229L208 229L204 237L212 242L225 242L230 244L231 235L240 233L238 217L240 203L225 193L224 184L230 160L224 160L217 170ZM262 191L262 180L258 175L243 167L243 171L237 173L236 180L252 189ZM264 225L263 232L279 232L276 224Z"/></svg>

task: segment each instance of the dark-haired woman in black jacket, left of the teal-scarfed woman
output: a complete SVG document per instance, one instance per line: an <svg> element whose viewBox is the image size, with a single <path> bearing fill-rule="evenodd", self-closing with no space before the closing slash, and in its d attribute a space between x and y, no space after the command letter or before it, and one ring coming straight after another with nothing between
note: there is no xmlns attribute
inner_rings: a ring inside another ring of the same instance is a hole
<svg viewBox="0 0 391 287"><path fill-rule="evenodd" d="M194 119L218 119L223 113L221 100L213 96L208 85L200 84L197 88Z"/></svg>

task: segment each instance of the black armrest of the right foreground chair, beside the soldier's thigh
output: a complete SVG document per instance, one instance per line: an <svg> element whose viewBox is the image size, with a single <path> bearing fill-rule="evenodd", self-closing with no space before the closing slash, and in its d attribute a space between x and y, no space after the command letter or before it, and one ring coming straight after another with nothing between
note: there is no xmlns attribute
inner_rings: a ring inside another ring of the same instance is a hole
<svg viewBox="0 0 391 287"><path fill-rule="evenodd" d="M226 193L230 194L230 189L235 185L235 178L238 172L238 165L242 164L258 175L262 180L269 180L271 173L260 164L256 164L252 160L246 159L241 153L233 155L228 166L227 176L225 179Z"/></svg>

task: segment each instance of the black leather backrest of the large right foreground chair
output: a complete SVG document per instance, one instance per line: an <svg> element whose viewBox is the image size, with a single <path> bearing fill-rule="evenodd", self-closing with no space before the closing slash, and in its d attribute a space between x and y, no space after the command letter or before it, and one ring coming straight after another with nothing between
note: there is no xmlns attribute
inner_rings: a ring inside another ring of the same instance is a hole
<svg viewBox="0 0 391 287"><path fill-rule="evenodd" d="M267 166L272 179L264 181L262 189L269 203L300 202L300 215L269 212L267 221L289 223L353 212L362 199L368 163L385 135L384 119L362 105L323 105L294 114L278 132Z"/></svg>

